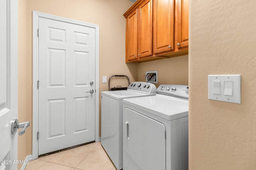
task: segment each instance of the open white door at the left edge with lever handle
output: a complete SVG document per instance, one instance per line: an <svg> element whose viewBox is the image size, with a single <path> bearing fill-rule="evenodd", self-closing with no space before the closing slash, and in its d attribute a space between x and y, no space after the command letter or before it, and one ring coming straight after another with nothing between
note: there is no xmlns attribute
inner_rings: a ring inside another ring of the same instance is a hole
<svg viewBox="0 0 256 170"><path fill-rule="evenodd" d="M18 2L0 0L0 170L16 170L18 118ZM8 14L8 15L7 15Z"/></svg>

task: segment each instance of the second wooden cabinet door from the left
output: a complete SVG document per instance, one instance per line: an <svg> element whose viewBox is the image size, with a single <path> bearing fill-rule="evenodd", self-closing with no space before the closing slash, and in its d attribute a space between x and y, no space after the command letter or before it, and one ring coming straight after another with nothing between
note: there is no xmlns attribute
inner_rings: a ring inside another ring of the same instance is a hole
<svg viewBox="0 0 256 170"><path fill-rule="evenodd" d="M138 8L138 57L152 55L152 0L145 0Z"/></svg>

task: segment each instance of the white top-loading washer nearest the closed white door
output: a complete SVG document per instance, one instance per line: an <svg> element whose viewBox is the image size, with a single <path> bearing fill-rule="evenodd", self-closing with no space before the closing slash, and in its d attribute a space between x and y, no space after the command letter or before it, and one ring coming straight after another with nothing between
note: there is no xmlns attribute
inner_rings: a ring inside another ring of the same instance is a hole
<svg viewBox="0 0 256 170"><path fill-rule="evenodd" d="M101 92L101 145L118 170L123 168L123 99L152 95L156 95L156 86L147 82Z"/></svg>

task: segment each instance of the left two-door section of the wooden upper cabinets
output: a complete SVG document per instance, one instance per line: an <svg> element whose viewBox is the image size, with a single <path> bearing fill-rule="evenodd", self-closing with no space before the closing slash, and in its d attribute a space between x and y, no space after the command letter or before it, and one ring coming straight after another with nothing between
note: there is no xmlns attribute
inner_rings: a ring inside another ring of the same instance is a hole
<svg viewBox="0 0 256 170"><path fill-rule="evenodd" d="M126 12L124 16L126 17L126 62L152 56L152 0L140 1L137 8Z"/></svg>

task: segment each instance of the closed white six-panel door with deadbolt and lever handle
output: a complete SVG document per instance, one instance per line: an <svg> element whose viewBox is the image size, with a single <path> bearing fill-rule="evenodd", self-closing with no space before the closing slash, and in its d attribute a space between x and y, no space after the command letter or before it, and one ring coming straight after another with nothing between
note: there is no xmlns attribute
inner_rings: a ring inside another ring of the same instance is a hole
<svg viewBox="0 0 256 170"><path fill-rule="evenodd" d="M95 141L95 29L39 18L38 155Z"/></svg>

